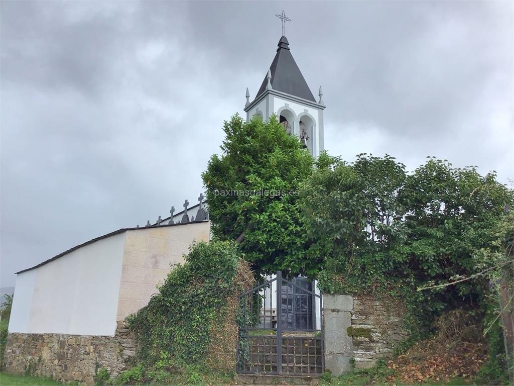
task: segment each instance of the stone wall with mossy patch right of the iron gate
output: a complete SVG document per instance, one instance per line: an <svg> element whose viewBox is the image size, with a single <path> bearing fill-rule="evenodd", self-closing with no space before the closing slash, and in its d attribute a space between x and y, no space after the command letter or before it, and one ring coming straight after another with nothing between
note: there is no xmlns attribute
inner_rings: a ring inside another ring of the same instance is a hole
<svg viewBox="0 0 514 386"><path fill-rule="evenodd" d="M325 369L334 375L372 367L407 338L402 305L372 296L324 295Z"/></svg>

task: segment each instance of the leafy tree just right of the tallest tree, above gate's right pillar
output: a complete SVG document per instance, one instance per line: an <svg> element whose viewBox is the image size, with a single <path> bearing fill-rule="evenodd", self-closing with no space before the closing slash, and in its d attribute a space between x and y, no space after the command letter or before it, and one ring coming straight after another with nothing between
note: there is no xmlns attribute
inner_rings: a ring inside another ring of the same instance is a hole
<svg viewBox="0 0 514 386"><path fill-rule="evenodd" d="M398 200L405 179L405 166L389 155L360 154L348 164L322 153L299 200L310 259L326 272L344 272L346 287L384 279L391 245L405 238Z"/></svg>

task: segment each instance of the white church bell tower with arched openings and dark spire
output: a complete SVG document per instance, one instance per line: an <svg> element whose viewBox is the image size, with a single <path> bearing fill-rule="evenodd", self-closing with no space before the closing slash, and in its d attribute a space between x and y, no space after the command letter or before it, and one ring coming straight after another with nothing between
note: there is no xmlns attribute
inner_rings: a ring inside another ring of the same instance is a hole
<svg viewBox="0 0 514 386"><path fill-rule="evenodd" d="M316 101L291 55L289 42L282 36L277 54L252 102L246 89L246 119L259 115L267 120L272 114L276 114L284 129L291 135L298 136L310 154L317 157L324 149L324 109L321 87L319 100Z"/></svg>

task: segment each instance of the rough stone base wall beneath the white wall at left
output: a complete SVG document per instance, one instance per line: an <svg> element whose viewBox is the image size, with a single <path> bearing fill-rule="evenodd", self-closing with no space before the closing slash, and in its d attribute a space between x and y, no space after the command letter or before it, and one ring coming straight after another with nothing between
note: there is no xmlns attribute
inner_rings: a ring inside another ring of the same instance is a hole
<svg viewBox="0 0 514 386"><path fill-rule="evenodd" d="M134 355L134 340L121 323L114 337L11 332L3 369L12 374L94 384L97 369L106 367L114 377L130 366L127 362Z"/></svg>

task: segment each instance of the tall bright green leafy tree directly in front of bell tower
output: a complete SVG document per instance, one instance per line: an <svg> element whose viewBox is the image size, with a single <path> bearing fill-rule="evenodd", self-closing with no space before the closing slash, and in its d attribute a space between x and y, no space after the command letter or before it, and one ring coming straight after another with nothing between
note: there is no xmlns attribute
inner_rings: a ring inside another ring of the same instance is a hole
<svg viewBox="0 0 514 386"><path fill-rule="evenodd" d="M237 240L256 271L311 274L297 205L298 190L313 170L313 158L275 116L224 125L221 156L213 155L202 178L213 233Z"/></svg>

